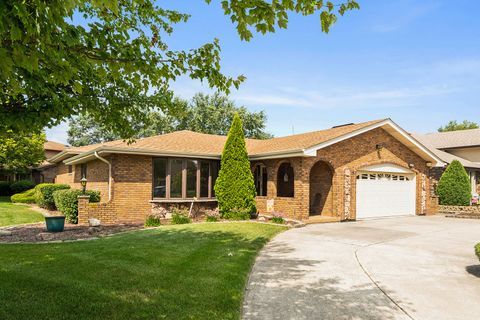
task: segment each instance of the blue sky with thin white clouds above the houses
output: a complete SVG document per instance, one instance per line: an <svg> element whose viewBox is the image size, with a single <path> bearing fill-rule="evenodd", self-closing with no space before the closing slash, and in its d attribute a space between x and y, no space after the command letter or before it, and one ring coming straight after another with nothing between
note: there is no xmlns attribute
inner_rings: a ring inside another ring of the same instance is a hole
<svg viewBox="0 0 480 320"><path fill-rule="evenodd" d="M168 0L192 15L168 39L189 49L217 37L222 67L247 77L231 98L265 110L275 136L390 117L412 132L449 120L480 122L480 1L358 0L329 34L318 15L292 15L289 28L241 41L219 1ZM186 78L173 84L190 98L210 92ZM66 141L66 125L47 130Z"/></svg>

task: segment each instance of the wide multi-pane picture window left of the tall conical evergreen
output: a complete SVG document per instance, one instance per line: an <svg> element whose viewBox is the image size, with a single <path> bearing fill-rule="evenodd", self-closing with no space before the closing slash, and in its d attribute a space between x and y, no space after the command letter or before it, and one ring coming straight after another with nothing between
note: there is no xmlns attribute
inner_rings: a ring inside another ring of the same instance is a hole
<svg viewBox="0 0 480 320"><path fill-rule="evenodd" d="M153 198L214 198L218 161L155 158L153 160Z"/></svg>

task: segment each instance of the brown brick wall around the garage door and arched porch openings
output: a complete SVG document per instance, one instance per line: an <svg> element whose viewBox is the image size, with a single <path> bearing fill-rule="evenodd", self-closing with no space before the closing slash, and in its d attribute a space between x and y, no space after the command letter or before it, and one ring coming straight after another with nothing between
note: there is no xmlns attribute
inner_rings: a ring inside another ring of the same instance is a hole
<svg viewBox="0 0 480 320"><path fill-rule="evenodd" d="M382 144L384 148L378 151L376 149L377 144ZM276 172L279 165L284 161L289 161L295 170L294 198L276 197ZM434 214L437 212L437 199L429 192L431 182L428 178L429 169L425 160L381 128L321 149L317 152L316 157L260 161L267 166L268 190L267 197L257 197L259 211L261 213L266 212L267 199L273 199L275 211L282 211L291 218L308 219L311 201L310 171L318 161L323 161L325 165L334 170L332 186L329 191L332 197L332 209L324 210L322 212L324 215L345 219L345 211L347 211L348 218L355 219L356 173L363 167L380 163L393 163L404 168L409 168L409 165L413 164L412 170L416 173L417 183L416 213ZM344 178L346 171L350 172L350 183L347 184ZM426 175L425 185L422 185L422 174ZM345 208L346 185L350 188L348 192L350 207L347 210ZM426 206L422 208L424 187L426 188L426 193L424 193Z"/></svg>

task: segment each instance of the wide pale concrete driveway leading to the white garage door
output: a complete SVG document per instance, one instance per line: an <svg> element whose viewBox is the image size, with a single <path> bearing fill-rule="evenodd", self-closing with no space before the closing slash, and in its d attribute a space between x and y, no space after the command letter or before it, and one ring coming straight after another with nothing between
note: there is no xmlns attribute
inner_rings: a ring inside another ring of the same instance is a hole
<svg viewBox="0 0 480 320"><path fill-rule="evenodd" d="M250 275L244 319L480 319L480 220L402 217L280 234Z"/></svg>

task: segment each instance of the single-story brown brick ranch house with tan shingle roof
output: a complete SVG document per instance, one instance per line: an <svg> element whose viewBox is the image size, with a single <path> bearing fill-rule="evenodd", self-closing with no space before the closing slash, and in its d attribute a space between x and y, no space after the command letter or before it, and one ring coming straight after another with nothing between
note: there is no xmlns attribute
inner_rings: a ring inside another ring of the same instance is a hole
<svg viewBox="0 0 480 320"><path fill-rule="evenodd" d="M79 222L143 221L158 207L216 206L225 136L178 131L67 148L49 161L56 183L101 192L79 204ZM437 211L430 168L443 162L390 119L268 140L246 139L260 213L307 222ZM195 198L195 199L194 199Z"/></svg>

